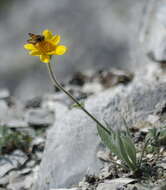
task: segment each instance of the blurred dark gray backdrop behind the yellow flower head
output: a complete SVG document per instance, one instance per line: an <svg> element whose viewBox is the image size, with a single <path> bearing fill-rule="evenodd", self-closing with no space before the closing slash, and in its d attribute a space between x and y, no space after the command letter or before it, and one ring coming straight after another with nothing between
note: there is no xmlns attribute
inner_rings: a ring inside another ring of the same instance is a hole
<svg viewBox="0 0 166 190"><path fill-rule="evenodd" d="M40 33L46 28L59 33L62 43L69 47L69 52L58 58L56 64L57 75L62 80L89 67L133 69L130 50L135 50L133 41L137 40L135 36L147 1L3 1L0 87L9 88L21 99L51 90L45 65L38 64L39 59L28 56L23 49L28 32Z"/></svg>

